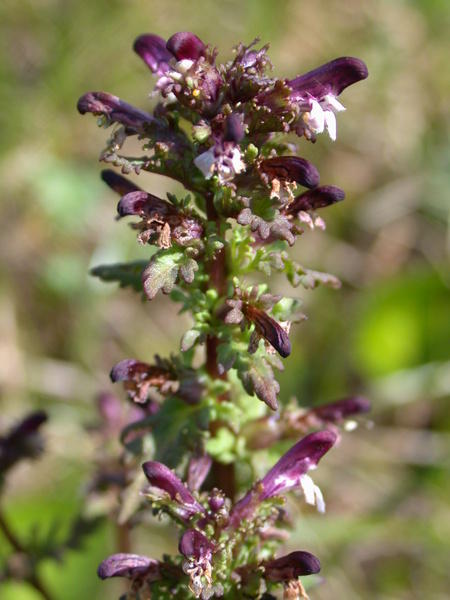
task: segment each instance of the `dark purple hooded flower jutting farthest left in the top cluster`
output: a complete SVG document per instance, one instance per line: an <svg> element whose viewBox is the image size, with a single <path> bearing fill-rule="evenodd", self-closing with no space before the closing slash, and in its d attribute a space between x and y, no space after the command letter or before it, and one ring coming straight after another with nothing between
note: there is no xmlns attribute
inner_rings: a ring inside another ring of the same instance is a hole
<svg viewBox="0 0 450 600"><path fill-rule="evenodd" d="M121 123L137 133L143 131L149 123L154 121L148 113L107 92L84 94L78 100L77 108L82 115L90 112L103 116L108 119L108 123Z"/></svg>

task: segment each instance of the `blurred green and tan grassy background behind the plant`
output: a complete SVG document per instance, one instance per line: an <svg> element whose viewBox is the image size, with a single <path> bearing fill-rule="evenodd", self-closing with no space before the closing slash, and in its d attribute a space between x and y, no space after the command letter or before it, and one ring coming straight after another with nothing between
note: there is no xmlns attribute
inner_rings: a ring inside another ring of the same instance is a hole
<svg viewBox="0 0 450 600"><path fill-rule="evenodd" d="M306 233L293 252L343 287L293 291L309 320L294 328L281 388L305 405L364 393L373 426L324 461L328 512L305 512L290 545L321 558L314 599L448 598L449 27L448 0L2 0L0 427L30 407L51 416L48 452L16 469L3 496L19 534L55 520L64 530L81 506L95 450L85 425L97 392L111 389L111 365L176 350L189 323L166 298L142 304L87 274L148 251L114 221L97 161L107 133L76 101L101 89L149 106L152 78L131 50L140 33L191 30L223 59L260 36L278 76L342 55L370 73L342 95L336 143L299 143L347 199L326 211L326 233ZM157 195L173 189L140 181ZM290 293L282 279L275 287ZM163 538L143 530L135 549L157 557ZM112 551L112 530L100 528L42 576L62 600L115 597L95 575ZM0 597L37 595L11 583Z"/></svg>

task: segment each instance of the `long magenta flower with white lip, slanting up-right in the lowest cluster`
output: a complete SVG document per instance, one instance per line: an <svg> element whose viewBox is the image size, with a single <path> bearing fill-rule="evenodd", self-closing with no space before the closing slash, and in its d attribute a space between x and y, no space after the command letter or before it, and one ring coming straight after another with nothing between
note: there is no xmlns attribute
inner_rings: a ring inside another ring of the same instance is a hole
<svg viewBox="0 0 450 600"><path fill-rule="evenodd" d="M230 524L239 526L242 519L253 516L259 502L301 487L308 504L316 504L323 512L325 503L320 489L307 475L315 469L322 456L334 445L337 435L333 431L318 431L297 442L270 469L266 476L233 507Z"/></svg>

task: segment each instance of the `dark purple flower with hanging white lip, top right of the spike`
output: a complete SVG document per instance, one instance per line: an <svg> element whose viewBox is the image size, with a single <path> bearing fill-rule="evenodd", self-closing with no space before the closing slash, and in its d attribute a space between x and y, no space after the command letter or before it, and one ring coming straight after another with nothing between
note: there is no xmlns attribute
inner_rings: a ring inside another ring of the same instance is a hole
<svg viewBox="0 0 450 600"><path fill-rule="evenodd" d="M292 89L290 100L296 102L302 111L297 133L314 140L317 133L327 129L330 138L335 140L334 111L345 110L337 96L367 75L367 67L362 60L343 57L288 80L286 83Z"/></svg>

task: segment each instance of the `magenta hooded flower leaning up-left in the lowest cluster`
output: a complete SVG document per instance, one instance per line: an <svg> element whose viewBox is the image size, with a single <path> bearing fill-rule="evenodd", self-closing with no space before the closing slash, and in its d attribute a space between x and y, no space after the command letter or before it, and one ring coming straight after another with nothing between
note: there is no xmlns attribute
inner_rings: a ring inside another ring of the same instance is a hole
<svg viewBox="0 0 450 600"><path fill-rule="evenodd" d="M142 465L142 469L150 482L151 496L162 502L168 496L176 504L173 508L183 521L188 521L194 515L204 513L202 505L168 467L156 461L148 461Z"/></svg>

